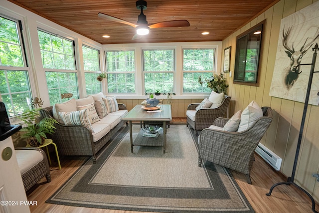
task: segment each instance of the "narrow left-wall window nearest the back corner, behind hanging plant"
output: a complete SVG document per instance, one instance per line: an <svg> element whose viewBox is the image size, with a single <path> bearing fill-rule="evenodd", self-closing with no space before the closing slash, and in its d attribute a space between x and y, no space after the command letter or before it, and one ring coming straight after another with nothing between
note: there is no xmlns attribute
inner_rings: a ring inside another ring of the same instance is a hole
<svg viewBox="0 0 319 213"><path fill-rule="evenodd" d="M92 95L102 91L101 82L96 78L100 74L99 50L82 45L86 94Z"/></svg>

